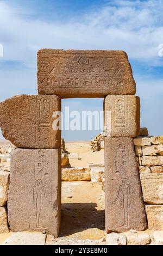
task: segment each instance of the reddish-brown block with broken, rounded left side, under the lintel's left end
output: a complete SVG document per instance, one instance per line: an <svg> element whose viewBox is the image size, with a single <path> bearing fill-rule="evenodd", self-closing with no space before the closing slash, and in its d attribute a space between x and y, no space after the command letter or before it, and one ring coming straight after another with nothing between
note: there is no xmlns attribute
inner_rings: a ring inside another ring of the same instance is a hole
<svg viewBox="0 0 163 256"><path fill-rule="evenodd" d="M59 148L61 131L53 130L52 114L61 110L56 95L18 95L0 103L2 134L20 148Z"/></svg>

